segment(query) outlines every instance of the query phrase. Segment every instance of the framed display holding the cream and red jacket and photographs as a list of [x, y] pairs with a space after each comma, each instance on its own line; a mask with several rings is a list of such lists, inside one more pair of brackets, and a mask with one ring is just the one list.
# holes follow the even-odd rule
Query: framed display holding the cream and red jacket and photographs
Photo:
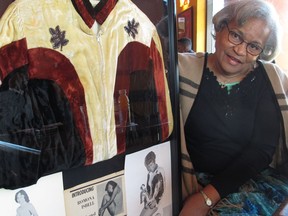
[[178, 214], [174, 11], [170, 0], [1, 0], [5, 215]]

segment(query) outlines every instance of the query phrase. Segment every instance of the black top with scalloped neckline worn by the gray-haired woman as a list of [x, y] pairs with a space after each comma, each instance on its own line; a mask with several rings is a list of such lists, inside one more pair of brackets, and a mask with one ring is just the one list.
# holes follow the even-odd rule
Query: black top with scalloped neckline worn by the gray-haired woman
[[185, 124], [194, 168], [214, 175], [211, 184], [221, 197], [266, 168], [279, 140], [279, 107], [263, 65], [258, 64], [228, 94], [205, 62]]

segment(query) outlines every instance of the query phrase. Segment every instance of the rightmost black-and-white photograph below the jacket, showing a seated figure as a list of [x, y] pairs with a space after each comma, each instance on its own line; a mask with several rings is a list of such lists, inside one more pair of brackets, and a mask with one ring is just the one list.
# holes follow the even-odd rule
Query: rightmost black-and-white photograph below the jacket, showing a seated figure
[[125, 182], [128, 215], [172, 215], [170, 143], [127, 155]]

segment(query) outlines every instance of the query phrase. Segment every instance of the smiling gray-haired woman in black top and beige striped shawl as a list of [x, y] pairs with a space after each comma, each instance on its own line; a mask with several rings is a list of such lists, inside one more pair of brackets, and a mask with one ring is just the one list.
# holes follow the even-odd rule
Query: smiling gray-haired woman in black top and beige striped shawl
[[[255, 207], [257, 214], [267, 214], [248, 198], [232, 199], [228, 204], [223, 198], [231, 197], [240, 186], [243, 189], [244, 183], [267, 169], [272, 159], [277, 169], [288, 170], [287, 142], [282, 133], [288, 116], [280, 109], [287, 107], [287, 97], [276, 97], [285, 92], [281, 82], [287, 77], [266, 62], [278, 54], [280, 28], [276, 18], [275, 9], [265, 1], [237, 1], [213, 17], [214, 53], [179, 54], [186, 198], [181, 216], [206, 215], [220, 204], [234, 206], [239, 213], [250, 211], [248, 205]], [[272, 190], [262, 182], [259, 185], [258, 189]], [[285, 198], [288, 190], [284, 192]], [[270, 211], [283, 199], [278, 199]]]

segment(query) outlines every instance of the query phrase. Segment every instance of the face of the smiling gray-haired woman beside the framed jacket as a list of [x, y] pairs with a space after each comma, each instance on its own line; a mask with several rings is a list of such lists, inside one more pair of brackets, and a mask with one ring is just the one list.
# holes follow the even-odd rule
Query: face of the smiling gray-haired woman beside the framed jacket
[[[228, 40], [229, 30], [237, 33], [246, 42], [235, 45]], [[226, 75], [246, 73], [252, 69], [259, 55], [253, 56], [247, 52], [247, 43], [257, 44], [264, 48], [270, 30], [261, 19], [251, 19], [238, 26], [235, 21], [228, 23], [220, 32], [216, 32], [216, 58], [219, 69]]]

